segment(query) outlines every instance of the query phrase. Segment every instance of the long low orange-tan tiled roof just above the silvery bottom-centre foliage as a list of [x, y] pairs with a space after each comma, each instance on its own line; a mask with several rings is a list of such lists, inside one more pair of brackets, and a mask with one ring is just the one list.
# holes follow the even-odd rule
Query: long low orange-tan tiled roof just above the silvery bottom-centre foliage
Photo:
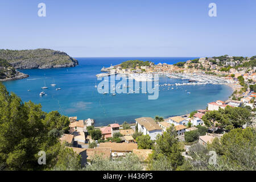
[[134, 149], [138, 148], [137, 143], [111, 143], [111, 142], [105, 142], [100, 143], [99, 147], [108, 147], [111, 148], [113, 151], [119, 151], [119, 152], [131, 152]]

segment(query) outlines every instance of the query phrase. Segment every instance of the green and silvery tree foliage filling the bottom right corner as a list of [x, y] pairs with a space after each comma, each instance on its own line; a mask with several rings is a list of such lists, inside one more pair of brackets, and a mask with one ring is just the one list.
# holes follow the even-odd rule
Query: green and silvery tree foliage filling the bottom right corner
[[[255, 129], [233, 129], [218, 140], [214, 139], [207, 148], [191, 147], [189, 164], [193, 170], [244, 171], [256, 170]], [[216, 164], [209, 163], [210, 151], [216, 152]]]

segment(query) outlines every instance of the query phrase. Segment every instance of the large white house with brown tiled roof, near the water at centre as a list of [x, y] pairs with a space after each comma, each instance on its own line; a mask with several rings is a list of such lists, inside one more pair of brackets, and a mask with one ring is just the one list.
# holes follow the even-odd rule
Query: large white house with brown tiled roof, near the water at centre
[[144, 135], [150, 135], [151, 140], [156, 139], [156, 135], [162, 134], [162, 128], [156, 124], [153, 118], [143, 117], [135, 119], [138, 124], [138, 131], [141, 131]]

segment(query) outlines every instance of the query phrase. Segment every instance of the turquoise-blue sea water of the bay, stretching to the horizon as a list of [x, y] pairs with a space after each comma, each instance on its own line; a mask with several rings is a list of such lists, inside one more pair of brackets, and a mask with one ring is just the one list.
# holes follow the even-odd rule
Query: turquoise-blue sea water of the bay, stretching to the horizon
[[[195, 59], [195, 57], [105, 57], [105, 58], [76, 58], [79, 65], [74, 68], [55, 69], [23, 69], [30, 77], [23, 80], [6, 81], [3, 84], [9, 92], [14, 92], [22, 101], [41, 104], [44, 111], [58, 110], [67, 116], [77, 116], [79, 119], [96, 119], [96, 126], [104, 126], [109, 123], [123, 121], [134, 122], [139, 117], [164, 118], [172, 115], [187, 114], [196, 109], [205, 109], [207, 103], [215, 100], [226, 100], [232, 94], [232, 89], [226, 85], [185, 85], [159, 87], [157, 100], [148, 100], [147, 94], [100, 94], [94, 87], [97, 81], [96, 74], [100, 69], [110, 64], [119, 64], [126, 60], [148, 60], [154, 63], [174, 64], [178, 61]], [[51, 86], [53, 78], [56, 87]], [[48, 89], [42, 90], [46, 86]], [[97, 81], [97, 83], [100, 81]], [[185, 80], [160, 77], [159, 84], [175, 82], [188, 82]], [[164, 88], [164, 90], [163, 90]], [[28, 92], [27, 90], [31, 91]], [[187, 91], [185, 91], [187, 90]], [[40, 92], [46, 92], [47, 96], [40, 97]], [[191, 92], [191, 94], [187, 94]]]

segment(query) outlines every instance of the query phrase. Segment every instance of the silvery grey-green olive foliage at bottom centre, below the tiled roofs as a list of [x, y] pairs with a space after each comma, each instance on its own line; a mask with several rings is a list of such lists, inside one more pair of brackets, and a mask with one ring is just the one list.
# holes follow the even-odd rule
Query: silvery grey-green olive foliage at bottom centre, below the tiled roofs
[[142, 160], [135, 154], [127, 154], [117, 159], [106, 159], [102, 155], [94, 155], [91, 165], [87, 165], [85, 171], [141, 171], [144, 166]]

